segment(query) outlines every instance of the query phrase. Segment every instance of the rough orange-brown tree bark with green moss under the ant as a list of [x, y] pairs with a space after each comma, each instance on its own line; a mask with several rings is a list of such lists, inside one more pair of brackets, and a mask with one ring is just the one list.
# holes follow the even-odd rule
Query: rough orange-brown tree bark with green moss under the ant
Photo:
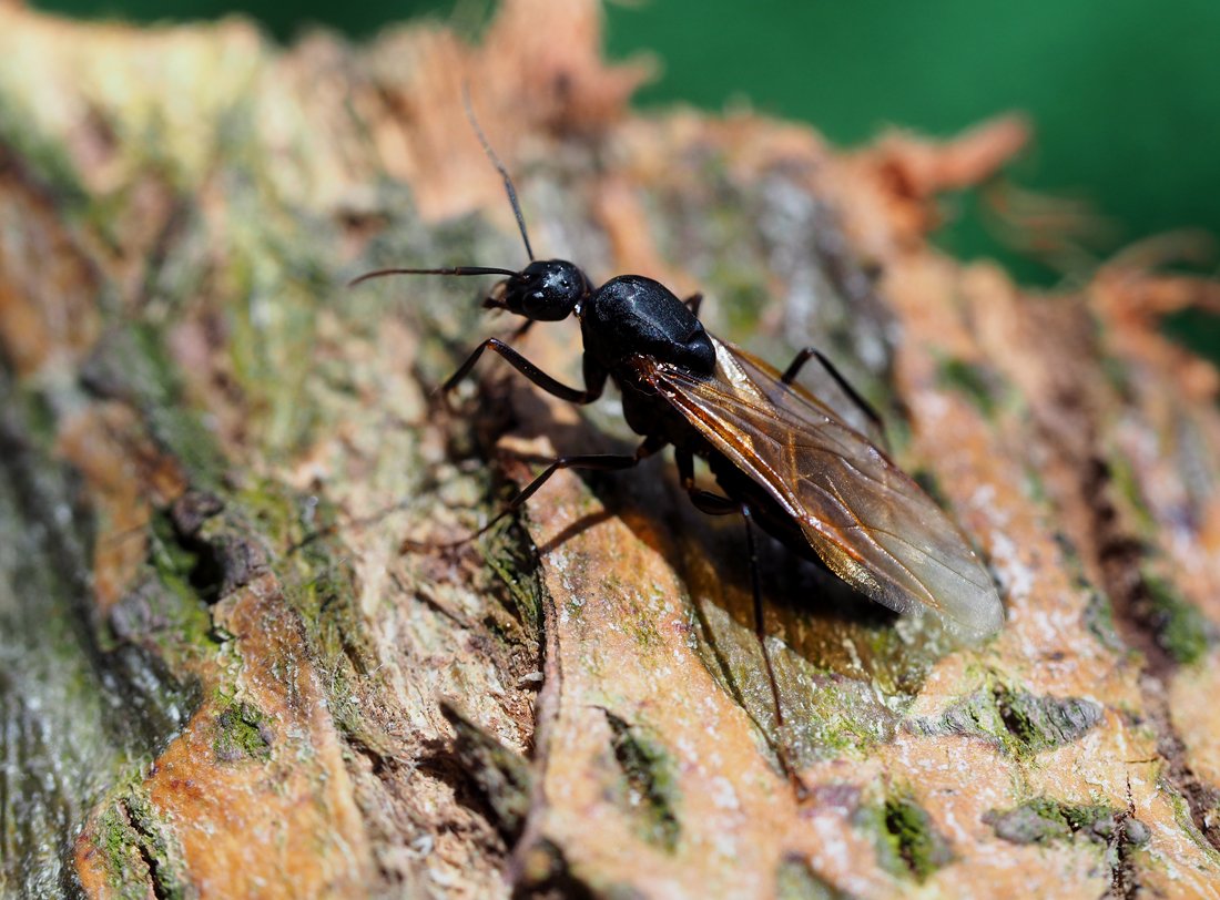
[[[93, 896], [1215, 896], [1218, 376], [1125, 254], [1032, 294], [927, 234], [1025, 132], [844, 154], [639, 117], [582, 0], [288, 50], [0, 5], [0, 889]], [[961, 646], [761, 548], [494, 360], [534, 246], [826, 350], [988, 561]], [[571, 323], [521, 345], [578, 379]], [[798, 796], [777, 749], [808, 785]]]

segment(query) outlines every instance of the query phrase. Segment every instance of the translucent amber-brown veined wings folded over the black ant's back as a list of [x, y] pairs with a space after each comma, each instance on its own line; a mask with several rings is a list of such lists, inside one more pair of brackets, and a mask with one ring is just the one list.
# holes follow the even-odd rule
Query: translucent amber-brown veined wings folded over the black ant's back
[[899, 612], [927, 606], [974, 637], [1003, 623], [992, 579], [944, 512], [805, 390], [716, 343], [716, 373], [637, 357], [643, 378], [800, 524], [839, 578]]

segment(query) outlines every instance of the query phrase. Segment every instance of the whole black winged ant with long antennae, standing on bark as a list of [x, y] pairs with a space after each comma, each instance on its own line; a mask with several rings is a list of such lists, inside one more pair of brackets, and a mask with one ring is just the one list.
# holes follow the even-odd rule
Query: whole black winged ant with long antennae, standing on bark
[[[880, 426], [877, 413], [826, 356], [806, 348], [780, 372], [710, 334], [698, 317], [699, 294], [681, 300], [664, 284], [637, 274], [616, 276], [594, 287], [584, 271], [567, 260], [536, 259], [512, 179], [476, 121], [468, 95], [466, 112], [483, 151], [504, 179], [529, 263], [521, 271], [487, 266], [383, 268], [360, 276], [351, 285], [394, 274], [503, 276], [484, 306], [522, 316], [526, 322], [516, 335], [534, 322], [576, 316], [584, 345], [584, 387], [569, 387], [509, 343], [487, 338], [444, 382], [440, 393], [453, 390], [490, 350], [539, 389], [567, 402], [590, 404], [601, 396], [608, 380], [614, 382], [622, 395], [623, 417], [643, 441], [630, 455], [551, 460], [481, 529], [451, 544], [431, 545], [433, 549], [461, 545], [486, 533], [560, 470], [626, 470], [673, 446], [678, 476], [692, 502], [712, 516], [744, 518], [755, 633], [778, 727], [783, 727], [783, 711], [764, 640], [755, 524], [892, 610], [935, 610], [974, 638], [999, 629], [999, 596], [963, 533], [886, 452], [831, 405], [797, 384], [802, 367], [816, 360]], [[697, 456], [706, 462], [722, 493], [698, 487]], [[800, 789], [782, 749], [778, 756]]]

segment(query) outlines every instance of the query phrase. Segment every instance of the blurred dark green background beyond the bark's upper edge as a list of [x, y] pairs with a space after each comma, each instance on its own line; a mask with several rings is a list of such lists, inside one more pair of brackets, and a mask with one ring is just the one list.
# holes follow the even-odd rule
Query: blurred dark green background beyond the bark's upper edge
[[[489, 0], [38, 0], [46, 10], [140, 22], [243, 12], [281, 40], [322, 24], [354, 38], [414, 16], [467, 28]], [[1100, 252], [1149, 234], [1220, 235], [1220, 2], [1176, 0], [649, 0], [606, 7], [611, 57], [648, 50], [660, 79], [645, 105], [717, 111], [747, 101], [856, 144], [886, 124], [952, 134], [1008, 110], [1026, 112], [1037, 143], [1011, 170], [1022, 188], [1082, 200], [1107, 220]], [[1014, 254], [977, 198], [961, 198], [941, 240], [961, 257], [998, 256], [1026, 283], [1054, 268]], [[1215, 261], [1204, 271], [1215, 271]], [[1069, 274], [1070, 277], [1070, 274]], [[1220, 354], [1203, 316], [1171, 329]]]

